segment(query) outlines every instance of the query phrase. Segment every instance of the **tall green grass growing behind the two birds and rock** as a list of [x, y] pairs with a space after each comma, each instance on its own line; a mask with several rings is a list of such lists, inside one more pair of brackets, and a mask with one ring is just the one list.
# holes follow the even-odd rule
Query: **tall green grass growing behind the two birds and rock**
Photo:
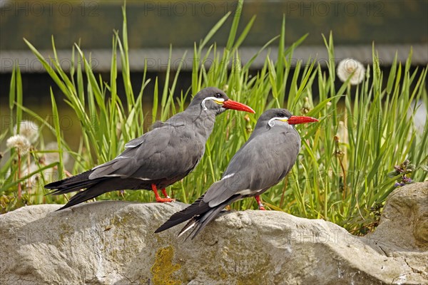
[[[47, 191], [43, 185], [57, 179], [58, 175], [63, 177], [64, 173], [63, 155], [57, 155], [55, 162], [47, 164], [44, 160], [46, 154], [61, 153], [58, 150], [64, 150], [75, 160], [71, 173], [88, 170], [113, 159], [123, 150], [128, 140], [142, 135], [145, 130], [141, 126], [145, 121], [153, 122], [153, 118], [165, 120], [182, 111], [190, 94], [195, 94], [206, 86], [223, 88], [233, 100], [253, 107], [256, 114], [228, 111], [218, 117], [203, 160], [194, 172], [183, 181], [175, 183], [168, 191], [180, 201], [193, 202], [214, 180], [218, 180], [230, 158], [248, 139], [258, 116], [266, 109], [280, 107], [288, 108], [295, 115], [305, 114], [319, 118], [320, 123], [297, 127], [302, 137], [302, 150], [292, 172], [283, 182], [263, 195], [265, 205], [270, 209], [299, 217], [327, 219], [355, 234], [364, 234], [375, 226], [382, 203], [394, 190], [394, 183], [404, 180], [409, 182], [409, 177], [416, 182], [427, 180], [427, 167], [424, 165], [428, 162], [428, 124], [425, 124], [421, 135], [415, 131], [412, 120], [412, 114], [418, 107], [412, 101], [427, 102], [427, 68], [412, 73], [409, 71], [412, 51], [405, 63], [394, 61], [384, 86], [384, 73], [379, 69], [379, 58], [373, 47], [372, 64], [366, 67], [362, 83], [351, 87], [348, 79], [340, 88], [336, 88], [332, 35], [325, 38], [329, 54], [327, 72], [323, 72], [313, 58], [309, 58], [307, 63], [298, 61], [294, 69], [291, 69], [293, 51], [304, 41], [306, 35], [292, 46], [285, 47], [284, 20], [282, 27], [279, 27], [280, 36], [273, 38], [262, 48], [277, 45], [277, 61], [273, 62], [268, 53], [263, 68], [257, 75], [250, 76], [250, 67], [259, 53], [244, 66], [239, 64], [240, 44], [255, 21], [253, 17], [238, 35], [242, 4], [240, 2], [235, 15], [225, 15], [200, 43], [195, 43], [192, 86], [189, 90], [180, 90], [178, 99], [173, 94], [180, 76], [180, 66], [173, 76], [168, 65], [165, 86], [158, 86], [155, 78], [154, 90], [146, 90], [148, 81], [153, 78], [146, 78], [145, 71], [140, 92], [133, 93], [125, 8], [123, 31], [121, 35], [119, 32], [113, 35], [109, 82], [103, 82], [100, 76], [93, 73], [90, 56], [78, 45], [73, 47], [72, 58], [76, 68], [66, 73], [58, 64], [54, 40], [54, 58], [51, 60], [54, 68], [49, 67], [36, 48], [26, 41], [61, 89], [66, 103], [76, 113], [82, 128], [81, 143], [78, 150], [72, 150], [63, 140], [52, 90], [54, 120], [43, 120], [22, 105], [21, 75], [19, 68], [16, 68], [11, 78], [9, 94], [13, 123], [9, 130], [0, 134], [1, 140], [14, 135], [14, 125], [20, 125], [22, 114], [28, 113], [40, 119], [37, 123], [42, 128], [47, 128], [56, 135], [58, 147], [56, 150], [46, 150], [44, 142], [39, 141], [33, 144], [26, 155], [19, 154], [15, 147], [6, 150], [11, 152], [11, 157], [1, 167], [1, 212], [24, 204], [66, 202], [65, 196], [44, 196]], [[208, 46], [213, 34], [232, 16], [233, 24], [225, 48], [220, 50], [215, 44]], [[116, 51], [120, 58], [116, 58]], [[215, 58], [215, 61], [207, 67], [203, 63], [209, 56]], [[117, 93], [118, 61], [122, 65], [125, 94], [121, 95], [125, 95], [125, 100], [121, 100]], [[229, 71], [228, 66], [231, 68]], [[86, 80], [83, 80], [85, 77]], [[317, 93], [312, 90], [315, 83], [319, 89]], [[143, 96], [153, 96], [153, 108], [149, 113], [143, 112]], [[408, 110], [412, 114], [406, 118]], [[404, 169], [403, 171], [394, 170], [395, 165], [400, 165], [405, 160], [409, 160], [412, 165], [399, 168]], [[24, 173], [24, 165], [30, 162], [36, 164], [36, 169]], [[51, 175], [46, 175], [46, 170], [57, 175], [49, 177]], [[37, 174], [40, 175], [39, 182], [26, 187], [26, 181]], [[17, 191], [19, 182], [23, 187], [21, 198]], [[98, 199], [140, 202], [154, 200], [153, 193], [149, 191], [110, 192]], [[236, 202], [232, 207], [257, 208], [253, 199]]]

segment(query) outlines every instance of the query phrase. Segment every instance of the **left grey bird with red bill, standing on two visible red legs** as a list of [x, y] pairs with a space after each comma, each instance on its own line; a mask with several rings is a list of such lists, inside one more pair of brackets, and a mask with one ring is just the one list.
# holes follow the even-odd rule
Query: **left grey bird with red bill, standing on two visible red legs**
[[[218, 88], [198, 92], [183, 112], [157, 122], [148, 133], [129, 141], [115, 159], [79, 175], [49, 183], [61, 195], [86, 188], [71, 197], [66, 209], [115, 190], [153, 190], [156, 202], [172, 202], [165, 187], [183, 179], [200, 161], [215, 116], [227, 109], [255, 113], [247, 105], [230, 100]], [[165, 198], [158, 195], [161, 189]]]

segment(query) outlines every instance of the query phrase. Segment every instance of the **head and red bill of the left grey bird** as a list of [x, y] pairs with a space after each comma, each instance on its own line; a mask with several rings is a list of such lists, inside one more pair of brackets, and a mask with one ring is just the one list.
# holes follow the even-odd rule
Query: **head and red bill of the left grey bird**
[[247, 105], [230, 100], [223, 90], [215, 87], [208, 87], [200, 90], [193, 97], [189, 108], [198, 108], [201, 112], [214, 113], [215, 115], [223, 113], [228, 109], [255, 113], [254, 110]]

